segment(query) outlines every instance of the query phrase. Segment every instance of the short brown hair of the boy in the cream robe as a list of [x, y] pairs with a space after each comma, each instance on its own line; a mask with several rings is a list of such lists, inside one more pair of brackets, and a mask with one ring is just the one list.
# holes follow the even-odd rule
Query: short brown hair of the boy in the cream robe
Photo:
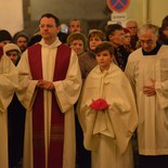
[[95, 48], [95, 54], [98, 54], [104, 50], [107, 50], [109, 52], [109, 54], [113, 55], [114, 54], [113, 43], [108, 42], [108, 41], [103, 41], [102, 43], [98, 44]]

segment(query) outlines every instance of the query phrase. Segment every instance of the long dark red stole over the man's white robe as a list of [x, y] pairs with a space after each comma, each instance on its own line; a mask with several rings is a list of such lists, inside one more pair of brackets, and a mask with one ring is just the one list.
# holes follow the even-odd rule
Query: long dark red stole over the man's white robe
[[[41, 46], [35, 44], [28, 49], [28, 60], [34, 80], [43, 79]], [[70, 60], [70, 49], [65, 44], [57, 48], [55, 59], [53, 81], [64, 80]], [[51, 112], [51, 137], [49, 151], [46, 154], [44, 146], [44, 109], [43, 90], [38, 89], [38, 93], [33, 106], [33, 151], [34, 168], [46, 168], [46, 156], [48, 155], [48, 168], [63, 167], [64, 147], [64, 114], [61, 112], [55, 95], [52, 93]]]

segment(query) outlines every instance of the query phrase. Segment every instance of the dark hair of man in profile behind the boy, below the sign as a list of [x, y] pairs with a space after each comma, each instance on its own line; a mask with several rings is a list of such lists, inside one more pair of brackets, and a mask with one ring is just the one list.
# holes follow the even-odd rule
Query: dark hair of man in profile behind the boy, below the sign
[[107, 25], [105, 28], [106, 39], [109, 40], [108, 36], [113, 35], [115, 30], [122, 30], [124, 27], [119, 24]]

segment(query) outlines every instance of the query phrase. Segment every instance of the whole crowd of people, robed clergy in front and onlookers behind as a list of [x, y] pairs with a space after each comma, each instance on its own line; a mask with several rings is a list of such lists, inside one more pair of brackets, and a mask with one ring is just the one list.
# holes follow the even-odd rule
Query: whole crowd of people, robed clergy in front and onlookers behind
[[167, 168], [168, 16], [68, 34], [0, 29], [1, 168]]

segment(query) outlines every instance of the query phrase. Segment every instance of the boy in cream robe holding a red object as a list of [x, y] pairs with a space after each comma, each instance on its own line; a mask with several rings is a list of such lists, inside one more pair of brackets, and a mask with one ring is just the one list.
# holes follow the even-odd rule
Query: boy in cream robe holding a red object
[[138, 114], [129, 81], [113, 63], [113, 44], [95, 48], [95, 66], [88, 75], [78, 106], [83, 144], [92, 168], [133, 168], [130, 138]]

